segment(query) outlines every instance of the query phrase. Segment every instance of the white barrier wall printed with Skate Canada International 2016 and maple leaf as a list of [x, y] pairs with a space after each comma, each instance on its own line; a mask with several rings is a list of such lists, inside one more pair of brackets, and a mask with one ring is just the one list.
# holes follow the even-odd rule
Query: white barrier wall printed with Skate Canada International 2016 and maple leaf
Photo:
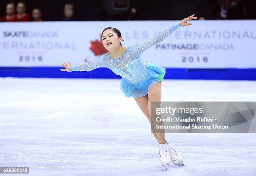
[[[1, 22], [0, 67], [61, 67], [107, 52], [100, 35], [115, 27], [123, 46], [151, 39], [178, 21]], [[256, 68], [256, 20], [191, 20], [141, 58], [162, 67]]]

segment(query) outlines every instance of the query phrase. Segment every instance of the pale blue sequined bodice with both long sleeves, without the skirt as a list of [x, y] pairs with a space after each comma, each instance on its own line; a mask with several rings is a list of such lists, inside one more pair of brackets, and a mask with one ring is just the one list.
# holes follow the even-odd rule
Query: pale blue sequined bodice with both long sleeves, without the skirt
[[91, 71], [99, 67], [108, 67], [115, 74], [137, 84], [142, 82], [148, 73], [146, 63], [141, 59], [141, 54], [149, 47], [162, 42], [174, 30], [180, 27], [180, 22], [172, 25], [161, 32], [153, 39], [127, 47], [123, 55], [117, 59], [112, 58], [108, 53], [101, 56], [95, 62], [73, 65], [70, 71]]

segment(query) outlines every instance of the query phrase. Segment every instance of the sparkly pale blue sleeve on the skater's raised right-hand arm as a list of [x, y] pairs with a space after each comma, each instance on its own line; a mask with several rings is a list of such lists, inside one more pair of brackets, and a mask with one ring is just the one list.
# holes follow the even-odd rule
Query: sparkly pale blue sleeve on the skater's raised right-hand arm
[[164, 30], [163, 32], [161, 32], [159, 35], [157, 35], [156, 37], [147, 40], [145, 42], [142, 43], [138, 43], [135, 45], [132, 45], [133, 47], [133, 53], [135, 54], [136, 57], [140, 57], [140, 55], [148, 48], [156, 45], [159, 42], [164, 41], [164, 39], [169, 36], [172, 32], [174, 32], [174, 30], [177, 30], [180, 27], [180, 22], [172, 25], [171, 27], [169, 27], [168, 29]]

